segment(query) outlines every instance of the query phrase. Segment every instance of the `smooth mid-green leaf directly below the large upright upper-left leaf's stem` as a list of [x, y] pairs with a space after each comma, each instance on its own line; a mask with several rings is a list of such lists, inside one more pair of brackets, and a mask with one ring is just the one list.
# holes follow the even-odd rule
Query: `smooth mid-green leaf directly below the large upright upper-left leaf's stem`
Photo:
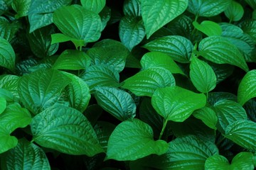
[[53, 64], [53, 69], [86, 69], [90, 66], [90, 57], [78, 50], [65, 50]]

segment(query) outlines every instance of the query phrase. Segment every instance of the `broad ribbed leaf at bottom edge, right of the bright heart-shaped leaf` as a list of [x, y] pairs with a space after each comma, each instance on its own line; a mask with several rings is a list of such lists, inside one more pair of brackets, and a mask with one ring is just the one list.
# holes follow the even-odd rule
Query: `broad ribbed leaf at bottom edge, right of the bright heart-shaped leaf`
[[204, 169], [206, 159], [215, 154], [218, 148], [213, 142], [186, 135], [169, 142], [166, 154], [151, 159], [149, 164], [157, 169]]

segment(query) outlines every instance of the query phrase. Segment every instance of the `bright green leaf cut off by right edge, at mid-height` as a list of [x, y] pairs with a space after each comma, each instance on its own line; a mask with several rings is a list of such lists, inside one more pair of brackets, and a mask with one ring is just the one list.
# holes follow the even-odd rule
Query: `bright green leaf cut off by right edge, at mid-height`
[[250, 98], [256, 97], [256, 69], [245, 74], [238, 87], [238, 103], [244, 105]]

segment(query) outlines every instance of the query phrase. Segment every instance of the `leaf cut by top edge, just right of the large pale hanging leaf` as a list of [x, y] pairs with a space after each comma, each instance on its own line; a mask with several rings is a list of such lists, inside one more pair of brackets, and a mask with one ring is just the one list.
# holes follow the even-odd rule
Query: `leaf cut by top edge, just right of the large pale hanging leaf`
[[190, 0], [187, 10], [195, 16], [217, 16], [230, 6], [232, 0]]

